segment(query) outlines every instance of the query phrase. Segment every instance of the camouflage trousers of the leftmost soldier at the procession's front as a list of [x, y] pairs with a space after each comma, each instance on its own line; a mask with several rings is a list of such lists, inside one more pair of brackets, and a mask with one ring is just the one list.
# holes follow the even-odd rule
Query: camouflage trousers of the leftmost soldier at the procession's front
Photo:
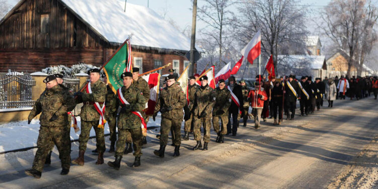
[[61, 168], [70, 169], [70, 130], [67, 127], [43, 127], [39, 128], [39, 135], [37, 140], [37, 152], [35, 153], [33, 161], [33, 169], [38, 171], [43, 170], [46, 156], [50, 149], [56, 146], [59, 151], [59, 159], [61, 161]]

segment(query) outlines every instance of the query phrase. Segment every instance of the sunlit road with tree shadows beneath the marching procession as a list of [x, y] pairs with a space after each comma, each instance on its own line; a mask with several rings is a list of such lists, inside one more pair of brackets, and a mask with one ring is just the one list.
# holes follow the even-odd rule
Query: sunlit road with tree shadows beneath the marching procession
[[[236, 137], [226, 136], [224, 144], [212, 142], [209, 150], [193, 151], [193, 136], [183, 141], [180, 156], [172, 157], [174, 147], [167, 146], [165, 158], [156, 157], [159, 148], [150, 131], [149, 143], [142, 152], [142, 166], [131, 167], [134, 157], [122, 159], [119, 171], [106, 162], [113, 154], [105, 153], [105, 163], [95, 165], [94, 140], [89, 142], [84, 166], [72, 166], [61, 176], [60, 162], [54, 150], [52, 164], [40, 179], [23, 172], [31, 167], [34, 150], [0, 156], [0, 187], [4, 188], [325, 188], [351, 163], [351, 160], [378, 134], [378, 101], [337, 100], [333, 108], [274, 126], [262, 122], [259, 130], [248, 121], [240, 124]], [[328, 103], [325, 102], [325, 105]], [[170, 140], [169, 140], [170, 141]], [[107, 147], [109, 146], [107, 140]], [[72, 158], [78, 154], [73, 143]]]

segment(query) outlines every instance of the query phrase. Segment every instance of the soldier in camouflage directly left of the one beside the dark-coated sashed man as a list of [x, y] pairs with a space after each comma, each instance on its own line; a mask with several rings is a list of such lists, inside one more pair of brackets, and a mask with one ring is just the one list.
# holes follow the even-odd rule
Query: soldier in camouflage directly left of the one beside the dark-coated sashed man
[[214, 90], [208, 85], [207, 76], [202, 76], [200, 78], [201, 87], [197, 90], [195, 94], [194, 102], [194, 138], [197, 141], [197, 145], [193, 150], [198, 150], [202, 147], [201, 144], [201, 126], [204, 127], [204, 148], [208, 149], [208, 144], [210, 142], [210, 129], [211, 129], [211, 110], [213, 109], [215, 103], [215, 93]]

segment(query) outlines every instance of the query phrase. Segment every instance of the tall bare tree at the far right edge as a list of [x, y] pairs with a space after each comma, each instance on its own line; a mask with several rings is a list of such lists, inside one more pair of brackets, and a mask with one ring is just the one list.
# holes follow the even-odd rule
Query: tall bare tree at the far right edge
[[374, 37], [373, 26], [376, 19], [376, 9], [371, 6], [371, 2], [365, 0], [332, 1], [321, 13], [323, 22], [320, 22], [319, 27], [338, 47], [337, 50], [349, 55], [348, 76], [352, 67], [358, 66], [356, 60], [362, 60], [363, 64], [366, 53], [371, 50], [371, 37]]

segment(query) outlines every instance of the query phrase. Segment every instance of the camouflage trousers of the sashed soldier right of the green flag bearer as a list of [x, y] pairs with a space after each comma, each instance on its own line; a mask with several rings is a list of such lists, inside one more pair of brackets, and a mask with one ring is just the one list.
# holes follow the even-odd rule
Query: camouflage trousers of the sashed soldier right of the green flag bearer
[[122, 156], [123, 150], [127, 141], [127, 137], [130, 136], [134, 141], [134, 156], [141, 157], [142, 156], [142, 128], [136, 129], [119, 129], [118, 128], [118, 140], [115, 145], [115, 155]]

